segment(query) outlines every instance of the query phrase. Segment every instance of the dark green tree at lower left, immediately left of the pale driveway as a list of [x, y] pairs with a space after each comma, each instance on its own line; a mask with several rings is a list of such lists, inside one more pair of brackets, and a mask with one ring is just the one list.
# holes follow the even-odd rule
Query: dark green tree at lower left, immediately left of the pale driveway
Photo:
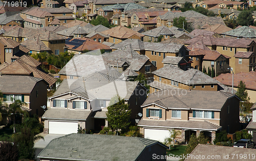
[[29, 128], [23, 128], [20, 133], [13, 134], [12, 137], [18, 147], [19, 159], [34, 159], [34, 141], [44, 139], [41, 135], [35, 136]]

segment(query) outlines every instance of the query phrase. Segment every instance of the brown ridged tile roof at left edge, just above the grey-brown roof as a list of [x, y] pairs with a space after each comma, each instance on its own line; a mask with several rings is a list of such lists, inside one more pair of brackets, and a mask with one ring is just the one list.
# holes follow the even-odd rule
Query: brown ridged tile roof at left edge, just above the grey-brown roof
[[55, 86], [57, 80], [45, 72], [42, 72], [39, 66], [40, 64], [40, 62], [31, 56], [24, 55], [16, 58], [15, 61], [2, 68], [0, 72], [2, 75], [25, 75], [44, 79], [47, 82], [47, 87], [51, 89]]

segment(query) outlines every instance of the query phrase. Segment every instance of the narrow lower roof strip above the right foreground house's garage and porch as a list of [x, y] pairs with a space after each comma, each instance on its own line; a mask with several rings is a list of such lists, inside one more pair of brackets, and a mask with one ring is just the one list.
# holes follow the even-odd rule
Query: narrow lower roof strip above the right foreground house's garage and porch
[[155, 126], [155, 127], [163, 127], [163, 128], [172, 128], [172, 129], [198, 129], [198, 130], [213, 130], [217, 131], [222, 128], [214, 123], [210, 123], [208, 121], [152, 121], [152, 120], [140, 120], [138, 126]]

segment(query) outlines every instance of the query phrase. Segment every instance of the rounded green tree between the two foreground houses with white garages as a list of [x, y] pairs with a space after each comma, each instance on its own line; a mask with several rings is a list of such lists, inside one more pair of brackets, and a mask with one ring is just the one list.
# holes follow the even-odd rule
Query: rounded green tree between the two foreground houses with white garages
[[[113, 99], [115, 99], [115, 97]], [[130, 124], [129, 119], [131, 112], [129, 105], [118, 97], [118, 102], [109, 106], [108, 111], [106, 111], [106, 118], [112, 130], [117, 133], [118, 129], [127, 127]]]

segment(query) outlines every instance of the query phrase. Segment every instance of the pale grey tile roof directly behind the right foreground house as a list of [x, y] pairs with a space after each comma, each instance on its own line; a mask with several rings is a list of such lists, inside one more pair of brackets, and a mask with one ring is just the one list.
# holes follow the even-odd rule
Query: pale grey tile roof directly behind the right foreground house
[[182, 82], [184, 84], [216, 84], [219, 83], [214, 78], [195, 70], [194, 68], [189, 68], [187, 71], [183, 71], [181, 68], [168, 64], [152, 72], [154, 75], [161, 76], [167, 79]]

